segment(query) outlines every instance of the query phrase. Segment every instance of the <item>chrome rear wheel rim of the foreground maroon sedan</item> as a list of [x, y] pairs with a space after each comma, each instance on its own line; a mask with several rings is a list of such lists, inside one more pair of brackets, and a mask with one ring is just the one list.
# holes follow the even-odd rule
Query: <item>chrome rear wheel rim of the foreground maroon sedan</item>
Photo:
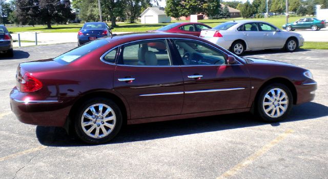
[[92, 138], [103, 138], [109, 135], [115, 123], [114, 110], [105, 104], [89, 106], [81, 117], [83, 131]]

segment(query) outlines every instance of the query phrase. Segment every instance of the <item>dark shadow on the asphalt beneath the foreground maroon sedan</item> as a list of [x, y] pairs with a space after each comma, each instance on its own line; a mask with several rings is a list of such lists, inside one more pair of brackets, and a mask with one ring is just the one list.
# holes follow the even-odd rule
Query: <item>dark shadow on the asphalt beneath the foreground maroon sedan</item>
[[[294, 106], [290, 115], [281, 123], [302, 120], [315, 120], [316, 118], [328, 116], [328, 107], [318, 103], [305, 103]], [[229, 130], [252, 126], [268, 125], [256, 120], [251, 113], [237, 113], [216, 115], [209, 117], [188, 118], [185, 120], [166, 121], [158, 123], [147, 123], [129, 125], [109, 143], [119, 144], [136, 141], [154, 140], [172, 136], [189, 135], [203, 132]], [[279, 126], [280, 123], [271, 123], [271, 126]], [[74, 136], [69, 136], [63, 128], [59, 127], [36, 127], [36, 136], [40, 144], [53, 147], [89, 146], [80, 142]]]

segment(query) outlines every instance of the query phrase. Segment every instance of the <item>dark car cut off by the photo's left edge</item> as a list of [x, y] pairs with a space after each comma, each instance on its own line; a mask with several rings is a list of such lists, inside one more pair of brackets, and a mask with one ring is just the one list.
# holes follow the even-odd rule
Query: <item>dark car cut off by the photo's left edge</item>
[[4, 25], [0, 25], [0, 52], [13, 57], [12, 37]]

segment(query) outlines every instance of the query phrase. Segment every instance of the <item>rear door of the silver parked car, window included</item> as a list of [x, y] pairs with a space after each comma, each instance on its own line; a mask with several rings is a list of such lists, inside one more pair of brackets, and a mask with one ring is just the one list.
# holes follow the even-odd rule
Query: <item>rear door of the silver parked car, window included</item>
[[244, 24], [242, 33], [248, 49], [262, 48], [264, 32], [259, 31], [257, 23]]

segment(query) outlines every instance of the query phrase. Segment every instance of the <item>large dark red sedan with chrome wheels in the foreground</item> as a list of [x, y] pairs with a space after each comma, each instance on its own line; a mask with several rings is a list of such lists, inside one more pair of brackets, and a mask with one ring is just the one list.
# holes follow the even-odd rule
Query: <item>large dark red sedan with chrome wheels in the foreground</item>
[[171, 33], [99, 38], [22, 63], [16, 79], [10, 104], [19, 121], [72, 129], [92, 144], [110, 141], [124, 124], [247, 111], [278, 122], [317, 88], [309, 70]]

